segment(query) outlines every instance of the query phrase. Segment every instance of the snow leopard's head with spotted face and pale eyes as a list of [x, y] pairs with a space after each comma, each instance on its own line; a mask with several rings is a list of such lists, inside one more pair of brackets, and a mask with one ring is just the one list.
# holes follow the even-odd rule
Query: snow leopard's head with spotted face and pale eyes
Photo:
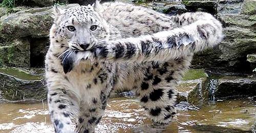
[[83, 51], [92, 48], [96, 41], [108, 38], [109, 26], [97, 13], [100, 6], [98, 1], [92, 6], [75, 6], [66, 10], [55, 6], [51, 40], [60, 47]]

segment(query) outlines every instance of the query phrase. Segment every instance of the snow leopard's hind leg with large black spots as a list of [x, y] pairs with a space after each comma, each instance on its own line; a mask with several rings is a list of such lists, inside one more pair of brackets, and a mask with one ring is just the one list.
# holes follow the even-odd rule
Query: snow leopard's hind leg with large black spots
[[177, 82], [190, 65], [192, 55], [164, 63], [152, 63], [136, 94], [148, 117], [157, 124], [168, 124], [176, 115]]

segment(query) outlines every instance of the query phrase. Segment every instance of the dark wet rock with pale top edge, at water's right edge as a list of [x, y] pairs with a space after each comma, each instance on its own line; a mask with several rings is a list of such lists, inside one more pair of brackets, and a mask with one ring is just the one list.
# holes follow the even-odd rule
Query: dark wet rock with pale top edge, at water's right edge
[[214, 96], [216, 99], [256, 95], [256, 79], [224, 76], [218, 79]]

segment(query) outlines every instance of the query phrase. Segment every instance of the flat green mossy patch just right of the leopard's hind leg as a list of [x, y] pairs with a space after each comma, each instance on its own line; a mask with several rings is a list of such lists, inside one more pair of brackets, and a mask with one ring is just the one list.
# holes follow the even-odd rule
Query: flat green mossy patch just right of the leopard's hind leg
[[204, 69], [189, 69], [183, 76], [183, 80], [192, 80], [207, 77]]

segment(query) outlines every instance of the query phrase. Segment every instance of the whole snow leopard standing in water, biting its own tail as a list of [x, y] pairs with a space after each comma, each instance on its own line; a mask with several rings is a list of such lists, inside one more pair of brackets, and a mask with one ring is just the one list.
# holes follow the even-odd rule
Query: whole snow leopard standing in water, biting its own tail
[[223, 38], [208, 13], [168, 16], [120, 2], [54, 7], [53, 18], [45, 66], [55, 132], [94, 132], [118, 89], [133, 90], [148, 118], [168, 125], [193, 54]]

